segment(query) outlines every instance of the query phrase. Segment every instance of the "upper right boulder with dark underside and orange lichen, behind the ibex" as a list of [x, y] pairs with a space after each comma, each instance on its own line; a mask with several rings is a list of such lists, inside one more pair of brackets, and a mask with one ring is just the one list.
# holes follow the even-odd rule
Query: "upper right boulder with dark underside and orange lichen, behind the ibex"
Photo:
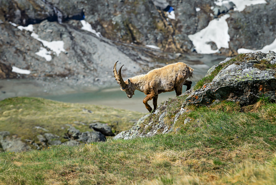
[[191, 93], [183, 106], [210, 105], [215, 100], [234, 101], [246, 106], [254, 104], [262, 96], [275, 101], [275, 69], [261, 70], [256, 65], [261, 60], [273, 62], [275, 58], [276, 53], [272, 51], [268, 54], [255, 52], [247, 54], [241, 61], [229, 62], [211, 83]]

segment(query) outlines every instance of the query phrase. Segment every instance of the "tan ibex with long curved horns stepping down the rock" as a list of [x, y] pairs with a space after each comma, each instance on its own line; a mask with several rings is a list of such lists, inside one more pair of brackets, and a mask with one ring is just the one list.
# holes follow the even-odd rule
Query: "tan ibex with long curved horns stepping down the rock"
[[179, 96], [182, 94], [183, 85], [187, 86], [186, 91], [192, 85], [192, 82], [187, 79], [193, 77], [194, 69], [182, 62], [153, 69], [145, 75], [134, 76], [126, 81], [123, 80], [121, 75], [121, 70], [124, 65], [117, 72], [117, 62], [114, 65], [113, 72], [117, 83], [121, 86], [121, 90], [126, 92], [128, 98], [132, 98], [135, 90], [145, 93], [147, 96], [144, 98], [143, 103], [149, 112], [152, 111], [152, 108], [149, 106], [148, 101], [153, 98], [153, 110], [155, 111], [157, 108], [158, 94], [175, 90], [176, 95]]

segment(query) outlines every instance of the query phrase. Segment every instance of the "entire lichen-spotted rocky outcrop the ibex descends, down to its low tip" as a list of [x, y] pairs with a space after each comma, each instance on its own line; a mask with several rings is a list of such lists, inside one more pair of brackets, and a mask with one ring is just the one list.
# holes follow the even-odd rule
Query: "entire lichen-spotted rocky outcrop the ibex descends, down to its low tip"
[[[216, 75], [215, 75], [216, 71]], [[276, 101], [276, 53], [254, 52], [227, 58], [209, 69], [205, 77], [213, 79], [200, 89], [194, 87], [179, 97], [158, 106], [155, 113], [140, 118], [132, 129], [123, 131], [113, 139], [151, 137], [158, 133], [177, 132], [174, 128], [180, 115], [189, 112], [188, 105], [209, 106], [222, 100], [252, 105], [265, 97]], [[191, 119], [186, 118], [184, 124]]]

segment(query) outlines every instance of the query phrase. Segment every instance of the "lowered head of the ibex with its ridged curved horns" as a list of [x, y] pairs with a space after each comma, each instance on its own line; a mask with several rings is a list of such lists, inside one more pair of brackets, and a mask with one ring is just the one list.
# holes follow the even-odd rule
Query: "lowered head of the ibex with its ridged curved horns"
[[[117, 61], [118, 62], [118, 61]], [[130, 79], [124, 81], [121, 75], [121, 69], [124, 65], [122, 65], [122, 67], [120, 67], [119, 71], [117, 72], [116, 70], [116, 64], [114, 65], [113, 68], [113, 73], [114, 73], [114, 77], [117, 80], [117, 83], [120, 84], [121, 86], [121, 90], [125, 91], [125, 93], [127, 94], [128, 98], [132, 98], [132, 95], [134, 95], [134, 91], [136, 90], [135, 87], [133, 86], [133, 84], [131, 83]]]

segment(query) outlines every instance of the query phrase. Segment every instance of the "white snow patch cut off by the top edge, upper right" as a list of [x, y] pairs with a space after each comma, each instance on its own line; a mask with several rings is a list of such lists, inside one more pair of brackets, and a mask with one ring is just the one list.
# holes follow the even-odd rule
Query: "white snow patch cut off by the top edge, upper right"
[[223, 4], [228, 2], [233, 2], [236, 5], [234, 10], [239, 12], [243, 11], [246, 6], [266, 3], [265, 0], [217, 0], [215, 4], [217, 6], [222, 6]]

